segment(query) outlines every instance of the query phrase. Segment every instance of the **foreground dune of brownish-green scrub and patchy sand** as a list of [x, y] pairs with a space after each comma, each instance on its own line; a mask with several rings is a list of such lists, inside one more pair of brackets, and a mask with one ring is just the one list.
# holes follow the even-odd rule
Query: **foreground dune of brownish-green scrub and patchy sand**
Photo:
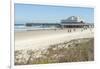
[[94, 38], [71, 40], [45, 50], [15, 51], [15, 65], [48, 64], [94, 60]]

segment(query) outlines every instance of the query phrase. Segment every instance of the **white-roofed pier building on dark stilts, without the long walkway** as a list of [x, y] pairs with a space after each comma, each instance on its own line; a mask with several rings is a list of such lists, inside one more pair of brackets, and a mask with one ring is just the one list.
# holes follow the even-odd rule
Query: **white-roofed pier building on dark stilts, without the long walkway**
[[61, 20], [61, 25], [63, 28], [94, 27], [94, 24], [86, 23], [80, 16], [71, 16], [67, 19]]

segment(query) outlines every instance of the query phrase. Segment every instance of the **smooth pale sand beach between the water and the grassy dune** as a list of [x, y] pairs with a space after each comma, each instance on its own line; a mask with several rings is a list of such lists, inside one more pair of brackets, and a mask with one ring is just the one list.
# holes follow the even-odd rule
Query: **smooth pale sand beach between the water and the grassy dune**
[[62, 43], [79, 38], [92, 38], [93, 29], [76, 29], [68, 32], [64, 30], [34, 30], [15, 32], [15, 50], [21, 49], [45, 49], [53, 44]]

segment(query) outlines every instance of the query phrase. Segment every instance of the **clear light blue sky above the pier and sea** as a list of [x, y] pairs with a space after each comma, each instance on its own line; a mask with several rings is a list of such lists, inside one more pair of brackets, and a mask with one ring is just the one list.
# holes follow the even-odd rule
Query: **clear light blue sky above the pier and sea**
[[85, 22], [94, 23], [93, 8], [15, 3], [14, 11], [16, 24], [60, 23], [70, 16], [81, 16]]

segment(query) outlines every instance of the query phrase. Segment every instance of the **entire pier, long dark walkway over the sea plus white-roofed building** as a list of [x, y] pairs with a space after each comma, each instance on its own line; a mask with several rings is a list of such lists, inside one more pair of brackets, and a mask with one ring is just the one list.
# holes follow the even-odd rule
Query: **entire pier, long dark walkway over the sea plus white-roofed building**
[[26, 23], [28, 27], [48, 27], [48, 28], [86, 28], [94, 27], [92, 23], [86, 23], [80, 16], [70, 16], [61, 20], [60, 23]]

